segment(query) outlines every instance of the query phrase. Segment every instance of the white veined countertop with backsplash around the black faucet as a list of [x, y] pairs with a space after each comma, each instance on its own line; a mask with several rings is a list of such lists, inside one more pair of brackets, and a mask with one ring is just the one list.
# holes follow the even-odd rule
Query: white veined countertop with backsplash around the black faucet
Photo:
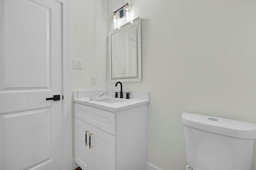
[[[125, 92], [126, 90], [124, 90], [124, 94]], [[147, 104], [150, 102], [148, 97], [149, 92], [132, 91], [130, 94], [130, 99], [125, 99], [125, 97], [122, 99], [114, 98], [113, 96], [109, 95], [110, 93], [112, 94], [112, 90], [74, 91], [74, 102], [78, 104], [83, 104], [85, 106], [95, 107], [95, 108], [103, 109], [107, 111], [120, 111], [120, 110], [128, 109], [131, 107], [139, 106], [142, 104]], [[92, 97], [88, 97], [88, 95]], [[132, 96], [136, 96], [137, 98], [132, 98]], [[119, 101], [116, 101], [116, 103], [100, 102], [100, 100], [108, 100], [108, 99], [119, 100], [120, 102]]]

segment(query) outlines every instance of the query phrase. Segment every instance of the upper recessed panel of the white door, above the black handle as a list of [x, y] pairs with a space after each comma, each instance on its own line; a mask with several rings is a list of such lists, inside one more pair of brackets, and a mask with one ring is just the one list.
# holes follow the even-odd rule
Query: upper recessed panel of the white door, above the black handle
[[5, 7], [4, 88], [49, 88], [50, 9], [30, 0]]

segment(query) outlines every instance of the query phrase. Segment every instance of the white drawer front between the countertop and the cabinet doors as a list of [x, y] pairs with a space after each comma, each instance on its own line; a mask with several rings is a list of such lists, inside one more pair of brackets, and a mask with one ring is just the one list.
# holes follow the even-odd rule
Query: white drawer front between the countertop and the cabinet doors
[[116, 135], [116, 114], [75, 103], [75, 117], [107, 133]]

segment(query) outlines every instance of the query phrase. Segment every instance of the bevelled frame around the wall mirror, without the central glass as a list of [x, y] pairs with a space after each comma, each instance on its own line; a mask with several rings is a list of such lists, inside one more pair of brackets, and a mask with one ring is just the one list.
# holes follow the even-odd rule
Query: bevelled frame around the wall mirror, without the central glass
[[[136, 75], [133, 76], [116, 76], [113, 77], [113, 72], [114, 72], [114, 67], [113, 67], [113, 38], [112, 36], [116, 35], [117, 33], [120, 33], [121, 31], [125, 30], [125, 28], [127, 28], [128, 26], [130, 26], [131, 24], [136, 24]], [[121, 40], [122, 41], [122, 40]], [[125, 54], [125, 53], [123, 53]], [[109, 57], [110, 57], [110, 82], [118, 82], [118, 81], [122, 81], [122, 82], [141, 82], [142, 81], [142, 62], [141, 62], [141, 18], [138, 17], [134, 20], [132, 20], [132, 22], [128, 22], [122, 26], [120, 26], [119, 28], [114, 29], [113, 31], [111, 31], [109, 33]], [[120, 69], [121, 71], [121, 69]], [[125, 70], [126, 71], [126, 70]]]

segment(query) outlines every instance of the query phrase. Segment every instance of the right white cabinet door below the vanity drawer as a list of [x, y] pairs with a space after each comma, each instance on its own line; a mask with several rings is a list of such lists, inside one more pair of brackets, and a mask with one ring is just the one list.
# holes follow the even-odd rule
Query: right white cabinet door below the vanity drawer
[[[116, 136], [91, 127], [95, 170], [116, 170]], [[84, 170], [84, 169], [83, 169]]]

